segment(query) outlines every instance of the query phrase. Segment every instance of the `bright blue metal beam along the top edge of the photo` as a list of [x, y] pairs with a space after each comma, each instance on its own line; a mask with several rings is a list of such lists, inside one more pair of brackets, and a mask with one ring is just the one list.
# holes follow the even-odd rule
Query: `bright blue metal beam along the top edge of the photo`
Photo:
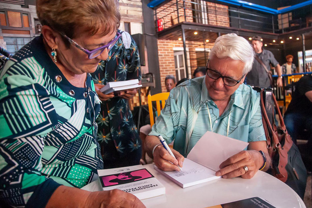
[[[160, 5], [161, 3], [163, 3], [164, 1], [166, 1], [166, 0], [153, 0], [153, 1], [149, 2], [149, 4], [147, 6], [150, 8], [154, 8], [154, 7], [157, 7], [158, 5]], [[235, 6], [245, 7], [245, 8], [261, 11], [261, 12], [266, 12], [266, 13], [274, 14], [274, 15], [290, 12], [294, 9], [298, 9], [298, 8], [305, 7], [305, 6], [312, 4], [312, 0], [308, 0], [305, 2], [301, 2], [299, 4], [295, 4], [291, 7], [287, 7], [285, 9], [276, 10], [276, 9], [261, 6], [258, 4], [254, 4], [254, 3], [250, 3], [250, 2], [246, 2], [246, 1], [241, 1], [241, 0], [216, 0], [216, 1], [224, 2], [224, 3], [235, 5]]]

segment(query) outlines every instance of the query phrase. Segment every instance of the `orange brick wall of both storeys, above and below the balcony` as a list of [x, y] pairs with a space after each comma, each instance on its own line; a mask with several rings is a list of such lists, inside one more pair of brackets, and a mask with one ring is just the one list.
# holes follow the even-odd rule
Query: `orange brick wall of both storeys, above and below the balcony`
[[[171, 1], [159, 7], [157, 11], [157, 18], [163, 18], [163, 29], [171, 27], [171, 16], [173, 18], [177, 17], [177, 6], [176, 1]], [[207, 6], [207, 17], [208, 24], [230, 27], [230, 19], [228, 13], [228, 7], [222, 4], [216, 4], [211, 2], [206, 2]], [[178, 2], [178, 7], [183, 7], [183, 1]], [[185, 2], [185, 13], [186, 13], [186, 22], [193, 22], [193, 13], [192, 13], [192, 4], [190, 2]], [[158, 13], [159, 12], [159, 13]], [[171, 13], [172, 12], [172, 13]], [[184, 21], [184, 10], [179, 9], [179, 18], [180, 22]], [[182, 17], [181, 17], [182, 16]], [[194, 42], [187, 41], [189, 54], [189, 65], [188, 69], [191, 70], [191, 74], [193, 74], [194, 70], [197, 68], [197, 60], [196, 60], [196, 45], [202, 45], [202, 42]], [[195, 44], [195, 45], [188, 45]], [[213, 43], [205, 44], [205, 48], [212, 48]], [[164, 85], [164, 80], [167, 75], [175, 75], [174, 69], [174, 52], [173, 47], [183, 47], [182, 41], [172, 41], [172, 40], [158, 40], [158, 59], [159, 59], [159, 70], [160, 70], [160, 79], [162, 92], [166, 92], [166, 88]], [[198, 46], [197, 46], [198, 47]], [[203, 46], [199, 46], [203, 48]], [[178, 81], [178, 80], [177, 80]]]

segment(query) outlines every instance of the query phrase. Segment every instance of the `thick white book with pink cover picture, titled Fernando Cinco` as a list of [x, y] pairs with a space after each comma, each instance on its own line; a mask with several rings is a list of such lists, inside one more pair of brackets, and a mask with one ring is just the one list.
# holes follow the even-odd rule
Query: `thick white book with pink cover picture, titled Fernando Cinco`
[[98, 170], [104, 191], [120, 189], [146, 199], [165, 194], [165, 187], [142, 165]]

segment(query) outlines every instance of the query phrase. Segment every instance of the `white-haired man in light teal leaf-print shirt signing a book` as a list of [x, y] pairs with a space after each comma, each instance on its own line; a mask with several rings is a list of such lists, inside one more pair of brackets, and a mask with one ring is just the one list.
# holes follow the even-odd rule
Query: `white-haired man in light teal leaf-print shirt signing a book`
[[[252, 46], [243, 37], [232, 33], [217, 38], [206, 76], [171, 90], [165, 108], [146, 138], [147, 153], [154, 157], [158, 168], [178, 171], [177, 165], [183, 167], [184, 157], [207, 131], [249, 143], [247, 150], [220, 164], [217, 176], [251, 178], [258, 170], [269, 168], [260, 94], [243, 84], [253, 61]], [[167, 143], [174, 139], [172, 152], [177, 159], [159, 145], [158, 135]]]

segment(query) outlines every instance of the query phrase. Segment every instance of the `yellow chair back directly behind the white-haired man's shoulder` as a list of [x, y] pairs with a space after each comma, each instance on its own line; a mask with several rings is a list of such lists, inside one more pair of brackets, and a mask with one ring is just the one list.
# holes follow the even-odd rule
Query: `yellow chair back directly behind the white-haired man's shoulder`
[[153, 106], [152, 106], [152, 101], [156, 101], [156, 108], [157, 108], [157, 116], [160, 115], [160, 100], [161, 100], [161, 105], [162, 109], [165, 107], [165, 102], [169, 97], [169, 92], [163, 92], [163, 93], [158, 93], [154, 95], [148, 95], [147, 96], [147, 104], [149, 105], [149, 119], [151, 122], [151, 126], [154, 125], [154, 116], [153, 116]]

